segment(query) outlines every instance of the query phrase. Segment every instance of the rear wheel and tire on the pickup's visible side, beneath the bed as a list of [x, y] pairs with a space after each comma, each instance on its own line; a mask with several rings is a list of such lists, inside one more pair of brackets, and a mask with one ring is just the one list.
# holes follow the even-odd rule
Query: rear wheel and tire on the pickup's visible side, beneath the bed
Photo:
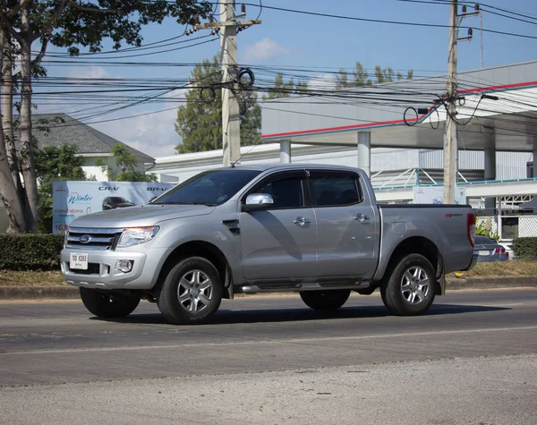
[[429, 310], [435, 297], [436, 277], [430, 261], [420, 254], [409, 254], [380, 286], [382, 301], [396, 316], [418, 316]]

